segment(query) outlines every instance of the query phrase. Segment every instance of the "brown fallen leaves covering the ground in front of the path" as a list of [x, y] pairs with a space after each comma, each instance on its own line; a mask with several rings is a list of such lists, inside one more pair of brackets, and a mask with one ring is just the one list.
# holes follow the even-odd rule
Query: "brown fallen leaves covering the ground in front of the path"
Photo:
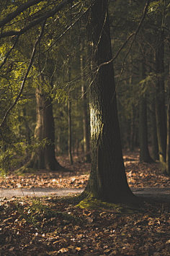
[[[161, 209], [161, 210], [160, 210]], [[1, 255], [169, 255], [169, 204], [136, 213], [76, 208], [58, 197], [1, 200]], [[5, 244], [5, 246], [4, 246]]]

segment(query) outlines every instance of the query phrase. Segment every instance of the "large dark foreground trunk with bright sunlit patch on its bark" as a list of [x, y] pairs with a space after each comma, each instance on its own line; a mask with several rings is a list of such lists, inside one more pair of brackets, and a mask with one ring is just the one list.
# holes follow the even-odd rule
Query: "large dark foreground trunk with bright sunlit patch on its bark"
[[[135, 198], [125, 175], [117, 117], [107, 0], [95, 1], [89, 17], [92, 82], [90, 86], [91, 174], [84, 195], [107, 202]], [[94, 72], [97, 71], [97, 72]]]

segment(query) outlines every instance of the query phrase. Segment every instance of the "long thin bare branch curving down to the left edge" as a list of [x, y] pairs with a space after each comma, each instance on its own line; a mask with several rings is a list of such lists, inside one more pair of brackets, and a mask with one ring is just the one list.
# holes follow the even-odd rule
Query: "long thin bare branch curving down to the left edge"
[[4, 118], [3, 118], [2, 121], [1, 121], [0, 129], [4, 126], [4, 123], [5, 123], [5, 121], [6, 121], [7, 116], [9, 115], [9, 112], [12, 110], [12, 108], [14, 108], [14, 106], [17, 104], [17, 102], [18, 102], [20, 96], [22, 95], [22, 91], [23, 91], [23, 89], [24, 89], [24, 84], [25, 84], [25, 82], [26, 82], [26, 80], [27, 80], [27, 76], [28, 76], [28, 74], [29, 74], [29, 72], [30, 72], [30, 69], [31, 69], [31, 67], [32, 67], [32, 63], [33, 63], [33, 61], [34, 61], [34, 57], [35, 57], [35, 53], [36, 53], [37, 44], [40, 43], [40, 40], [41, 40], [42, 35], [43, 35], [43, 33], [44, 33], [45, 22], [46, 22], [46, 20], [44, 20], [44, 22], [42, 22], [42, 27], [41, 27], [40, 35], [38, 35], [37, 40], [35, 41], [35, 45], [34, 45], [34, 47], [33, 47], [33, 49], [32, 49], [32, 55], [31, 55], [31, 58], [30, 58], [30, 63], [29, 63], [29, 65], [28, 65], [28, 67], [27, 67], [27, 72], [26, 72], [25, 75], [24, 75], [24, 79], [22, 80], [22, 84], [21, 84], [19, 93], [18, 93], [18, 95], [17, 95], [17, 98], [14, 100], [14, 103], [12, 104], [12, 106], [10, 106], [10, 107], [8, 108], [8, 110], [6, 111], [6, 113], [5, 113], [5, 115], [4, 115]]

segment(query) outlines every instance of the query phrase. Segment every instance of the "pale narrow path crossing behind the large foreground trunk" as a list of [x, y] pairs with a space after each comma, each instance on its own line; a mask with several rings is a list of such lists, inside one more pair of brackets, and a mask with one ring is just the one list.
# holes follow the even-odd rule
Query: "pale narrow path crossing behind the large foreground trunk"
[[[168, 200], [170, 202], [170, 188], [131, 188], [135, 195], [139, 197], [149, 197], [158, 200]], [[84, 189], [55, 189], [49, 187], [34, 187], [31, 189], [0, 189], [0, 197], [49, 197], [55, 196], [66, 196], [80, 194]]]

